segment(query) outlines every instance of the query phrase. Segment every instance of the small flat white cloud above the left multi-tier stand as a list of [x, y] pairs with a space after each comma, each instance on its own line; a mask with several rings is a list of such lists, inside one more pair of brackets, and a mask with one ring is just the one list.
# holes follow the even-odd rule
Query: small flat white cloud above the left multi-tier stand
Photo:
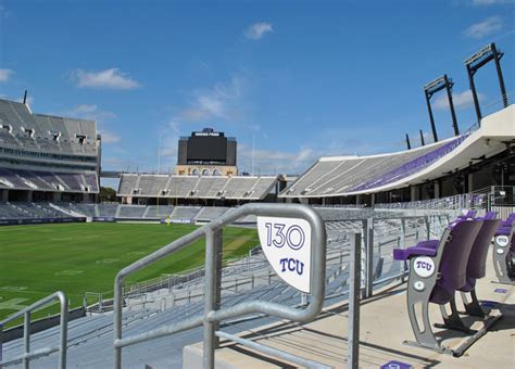
[[108, 88], [115, 90], [131, 90], [141, 85], [118, 68], [92, 72], [76, 69], [71, 73], [71, 78], [78, 87]]

